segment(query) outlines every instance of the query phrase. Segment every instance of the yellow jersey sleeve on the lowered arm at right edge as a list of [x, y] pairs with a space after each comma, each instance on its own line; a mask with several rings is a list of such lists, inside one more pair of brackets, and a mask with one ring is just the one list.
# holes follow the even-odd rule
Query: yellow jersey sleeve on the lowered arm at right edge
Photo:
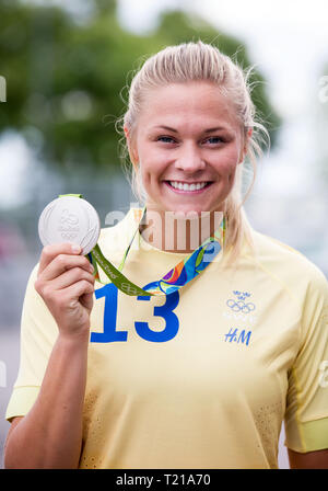
[[289, 372], [285, 445], [306, 453], [328, 448], [328, 283], [316, 270], [303, 306], [301, 343]]

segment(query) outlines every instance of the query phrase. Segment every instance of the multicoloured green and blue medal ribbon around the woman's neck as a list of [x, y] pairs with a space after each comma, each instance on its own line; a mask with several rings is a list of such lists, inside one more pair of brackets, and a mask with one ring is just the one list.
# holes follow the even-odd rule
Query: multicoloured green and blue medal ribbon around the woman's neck
[[[82, 195], [74, 195], [82, 197]], [[145, 215], [145, 206], [141, 212], [141, 220]], [[140, 288], [134, 283], [130, 282], [122, 273], [121, 270], [126, 262], [127, 255], [133, 242], [137, 231], [139, 230], [140, 221], [134, 230], [134, 233], [130, 240], [130, 243], [124, 254], [124, 258], [118, 266], [115, 267], [102, 253], [101, 248], [96, 244], [93, 250], [87, 254], [87, 258], [92, 265], [94, 266], [94, 276], [97, 282], [106, 285], [108, 283], [114, 283], [117, 288], [124, 292], [126, 295], [130, 296], [159, 296], [159, 295], [169, 295], [187, 283], [191, 282], [196, 276], [198, 276], [218, 255], [224, 243], [225, 236], [225, 217], [223, 217], [219, 228], [214, 231], [213, 236], [206, 239], [202, 244], [184, 258], [175, 267], [169, 270], [161, 279], [152, 282], [147, 288]], [[99, 278], [98, 266], [108, 277], [109, 282], [102, 282]]]

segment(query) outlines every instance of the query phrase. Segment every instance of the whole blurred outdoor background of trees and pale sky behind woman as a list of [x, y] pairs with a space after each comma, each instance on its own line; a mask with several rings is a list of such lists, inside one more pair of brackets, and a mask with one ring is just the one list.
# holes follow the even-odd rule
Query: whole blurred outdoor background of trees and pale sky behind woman
[[58, 194], [82, 193], [105, 226], [108, 212], [136, 204], [115, 123], [151, 54], [200, 38], [255, 65], [271, 148], [246, 212], [328, 276], [327, 18], [325, 0], [0, 0], [0, 467], [39, 214]]

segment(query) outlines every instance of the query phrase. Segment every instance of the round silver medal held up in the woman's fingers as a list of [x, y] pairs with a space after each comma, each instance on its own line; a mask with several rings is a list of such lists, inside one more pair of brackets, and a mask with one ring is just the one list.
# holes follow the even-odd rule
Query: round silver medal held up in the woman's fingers
[[38, 235], [44, 246], [72, 242], [89, 252], [97, 243], [101, 220], [97, 212], [78, 196], [61, 196], [49, 203], [38, 220]]

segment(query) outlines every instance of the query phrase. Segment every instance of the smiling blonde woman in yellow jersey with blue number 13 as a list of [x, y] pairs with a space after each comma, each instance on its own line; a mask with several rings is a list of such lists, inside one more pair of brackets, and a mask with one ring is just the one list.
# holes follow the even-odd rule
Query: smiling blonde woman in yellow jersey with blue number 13
[[104, 255], [119, 264], [137, 227], [124, 273], [147, 288], [218, 230], [221, 250], [180, 289], [131, 297], [79, 249], [46, 247], [5, 466], [276, 468], [284, 420], [291, 466], [327, 468], [328, 285], [245, 216], [243, 162], [265, 132], [247, 75], [201, 42], [168, 47], [136, 75], [122, 123], [145, 215], [103, 229]]

